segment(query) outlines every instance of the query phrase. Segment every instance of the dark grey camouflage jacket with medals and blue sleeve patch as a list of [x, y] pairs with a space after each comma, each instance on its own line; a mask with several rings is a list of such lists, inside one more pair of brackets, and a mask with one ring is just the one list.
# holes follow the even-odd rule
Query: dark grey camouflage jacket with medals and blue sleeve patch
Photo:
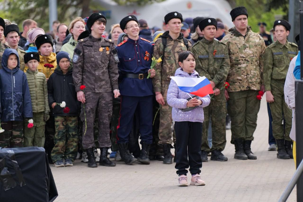
[[89, 35], [78, 41], [73, 56], [76, 92], [85, 85], [86, 92], [105, 93], [118, 89], [118, 55], [111, 39]]

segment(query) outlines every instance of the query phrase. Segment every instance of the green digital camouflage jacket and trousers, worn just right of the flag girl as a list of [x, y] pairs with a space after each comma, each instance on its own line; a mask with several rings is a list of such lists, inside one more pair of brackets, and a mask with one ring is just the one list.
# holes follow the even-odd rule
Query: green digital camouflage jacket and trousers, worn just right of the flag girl
[[[230, 61], [228, 56], [228, 47], [221, 41], [208, 41], [205, 38], [192, 46], [191, 52], [195, 54], [195, 70], [200, 76], [205, 76], [208, 80], [215, 82], [215, 88], [221, 89], [224, 86]], [[223, 151], [226, 145], [226, 100], [224, 89], [220, 94], [213, 96], [210, 104], [203, 109], [204, 121], [202, 128], [201, 150], [210, 152], [210, 150]], [[211, 116], [212, 128], [212, 147], [208, 146], [208, 125]]]

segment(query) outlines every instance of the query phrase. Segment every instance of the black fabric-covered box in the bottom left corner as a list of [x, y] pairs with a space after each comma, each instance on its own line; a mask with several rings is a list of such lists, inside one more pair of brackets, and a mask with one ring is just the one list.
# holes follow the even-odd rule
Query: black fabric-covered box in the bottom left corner
[[42, 147], [0, 148], [0, 201], [54, 201], [58, 196]]

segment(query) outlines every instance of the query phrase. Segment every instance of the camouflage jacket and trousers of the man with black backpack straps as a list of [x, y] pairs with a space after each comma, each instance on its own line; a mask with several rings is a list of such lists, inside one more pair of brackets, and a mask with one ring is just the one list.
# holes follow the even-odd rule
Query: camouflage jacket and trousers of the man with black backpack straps
[[[175, 76], [175, 71], [179, 68], [178, 56], [182, 51], [186, 51], [187, 47], [183, 42], [183, 34], [180, 33], [178, 39], [171, 39], [167, 32], [155, 42], [153, 56], [158, 59], [163, 55], [163, 44], [161, 37], [166, 37], [166, 47], [163, 65], [161, 62], [157, 63], [155, 69], [157, 70], [156, 76], [153, 78], [153, 85], [155, 92], [161, 92], [165, 105], [161, 106], [160, 110], [160, 126], [159, 126], [159, 144], [172, 144], [171, 140], [171, 106], [167, 104], [166, 94], [170, 83], [170, 76]], [[191, 48], [191, 42], [188, 41], [188, 50]]]

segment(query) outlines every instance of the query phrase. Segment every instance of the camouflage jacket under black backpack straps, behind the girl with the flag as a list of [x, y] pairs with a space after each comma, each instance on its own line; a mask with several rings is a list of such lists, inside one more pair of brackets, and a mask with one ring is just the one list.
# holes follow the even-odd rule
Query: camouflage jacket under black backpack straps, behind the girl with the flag
[[[166, 37], [166, 47], [163, 65], [161, 62], [158, 62], [155, 66], [157, 70], [156, 76], [152, 79], [154, 84], [154, 91], [161, 92], [161, 81], [170, 82], [170, 76], [175, 75], [175, 71], [179, 68], [178, 56], [182, 51], [186, 51], [186, 45], [183, 42], [183, 34], [180, 33], [178, 39], [171, 39], [171, 36], [167, 32], [164, 32], [163, 35], [155, 42], [153, 56], [158, 59], [163, 55], [163, 44], [162, 37]], [[188, 50], [191, 48], [191, 42], [188, 40]]]

